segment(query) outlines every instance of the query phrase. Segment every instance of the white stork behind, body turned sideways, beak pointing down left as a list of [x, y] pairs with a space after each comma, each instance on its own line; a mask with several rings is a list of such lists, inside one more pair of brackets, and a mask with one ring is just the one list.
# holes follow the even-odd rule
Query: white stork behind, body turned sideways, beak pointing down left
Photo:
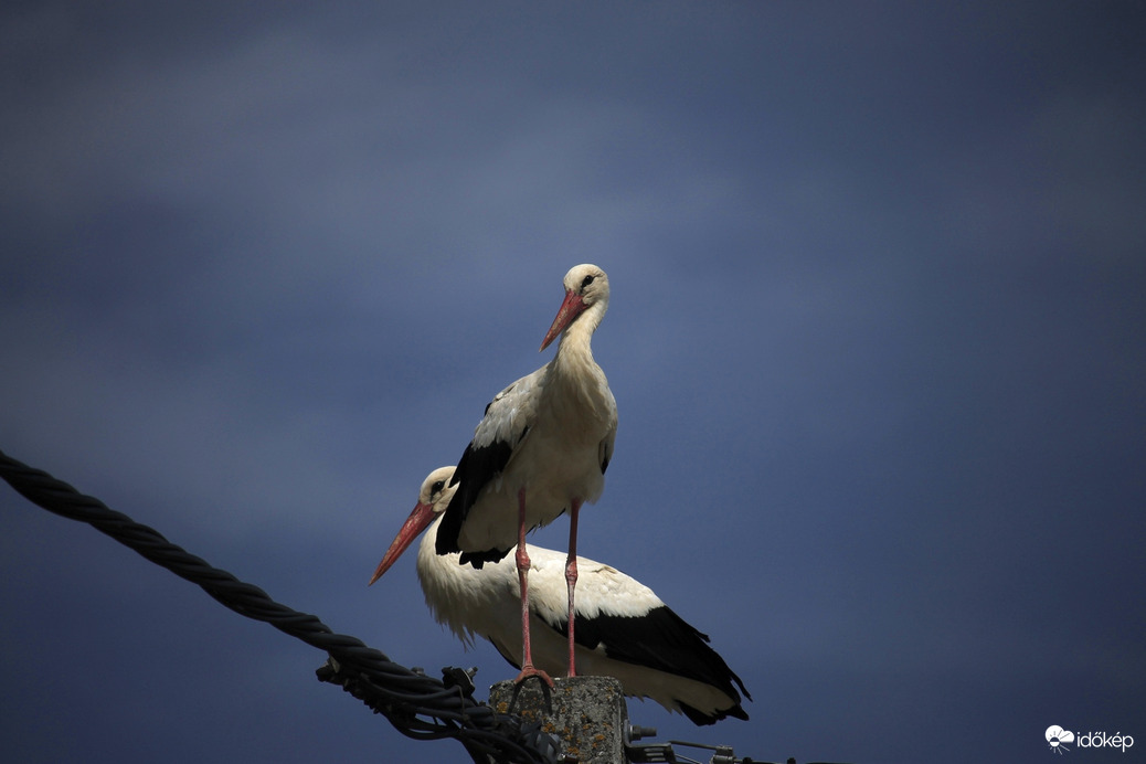
[[[422, 483], [418, 502], [378, 564], [372, 584], [430, 526], [418, 548], [418, 581], [434, 619], [466, 645], [485, 637], [511, 664], [521, 653], [517, 628], [518, 577], [509, 560], [480, 569], [458, 564], [460, 554], [439, 556], [434, 545], [444, 525], [441, 512], [454, 496], [454, 467], [434, 470]], [[431, 525], [432, 523], [432, 525]], [[534, 655], [542, 670], [558, 672], [565, 661], [570, 631], [565, 612], [564, 554], [529, 546], [529, 621]], [[744, 683], [708, 646], [708, 637], [670, 611], [644, 584], [620, 570], [587, 558], [581, 569], [574, 623], [576, 661], [582, 674], [621, 680], [625, 694], [651, 698], [694, 724], [725, 717], [747, 719], [740, 692]], [[735, 685], [733, 685], [735, 683]]]

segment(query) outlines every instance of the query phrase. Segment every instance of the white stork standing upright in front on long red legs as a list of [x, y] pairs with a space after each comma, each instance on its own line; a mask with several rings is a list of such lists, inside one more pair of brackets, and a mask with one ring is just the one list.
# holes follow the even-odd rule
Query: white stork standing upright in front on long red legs
[[[452, 486], [457, 490], [438, 534], [439, 554], [461, 552], [461, 565], [480, 568], [517, 548], [521, 593], [521, 674], [534, 667], [529, 643], [529, 556], [525, 533], [570, 513], [565, 578], [568, 616], [576, 585], [576, 523], [583, 502], [596, 502], [617, 438], [617, 402], [590, 340], [609, 308], [609, 277], [592, 265], [565, 274], [565, 299], [541, 342], [560, 334], [552, 361], [500, 392], [486, 407]], [[568, 676], [574, 676], [574, 633], [568, 630]]]

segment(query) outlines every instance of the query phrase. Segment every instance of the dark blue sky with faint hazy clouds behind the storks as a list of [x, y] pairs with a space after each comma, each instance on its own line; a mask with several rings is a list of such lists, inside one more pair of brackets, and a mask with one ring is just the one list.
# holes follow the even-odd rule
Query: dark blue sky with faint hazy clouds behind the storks
[[[634, 722], [779, 761], [1146, 745], [1143, 6], [18, 5], [8, 454], [488, 685], [413, 558], [366, 582], [596, 262], [620, 428], [579, 549], [755, 699]], [[14, 761], [468, 761], [7, 488], [0, 612]]]

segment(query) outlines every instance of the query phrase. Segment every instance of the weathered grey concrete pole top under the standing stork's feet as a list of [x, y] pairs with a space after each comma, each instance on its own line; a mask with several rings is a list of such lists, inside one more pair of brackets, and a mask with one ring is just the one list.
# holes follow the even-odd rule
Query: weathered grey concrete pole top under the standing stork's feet
[[[500, 714], [517, 714], [560, 740], [562, 754], [580, 764], [623, 764], [628, 709], [621, 683], [612, 677], [554, 679], [549, 690], [537, 679], [521, 685], [499, 682], [489, 704]], [[547, 704], [548, 700], [548, 704]]]

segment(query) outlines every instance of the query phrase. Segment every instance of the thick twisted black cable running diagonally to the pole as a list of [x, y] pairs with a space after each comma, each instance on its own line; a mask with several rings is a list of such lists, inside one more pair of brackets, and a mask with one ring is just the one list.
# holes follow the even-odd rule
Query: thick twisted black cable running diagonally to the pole
[[281, 605], [253, 584], [214, 568], [159, 531], [140, 525], [97, 498], [85, 496], [42, 470], [0, 451], [0, 478], [21, 496], [61, 517], [87, 522], [151, 562], [202, 588], [219, 604], [327, 652], [319, 669], [323, 682], [345, 691], [385, 716], [394, 727], [417, 740], [454, 738], [474, 762], [539, 764], [554, 762], [549, 741], [535, 725], [523, 727], [517, 716], [496, 714], [462, 687], [447, 687], [433, 677], [392, 662], [360, 639], [335, 633], [317, 616]]

